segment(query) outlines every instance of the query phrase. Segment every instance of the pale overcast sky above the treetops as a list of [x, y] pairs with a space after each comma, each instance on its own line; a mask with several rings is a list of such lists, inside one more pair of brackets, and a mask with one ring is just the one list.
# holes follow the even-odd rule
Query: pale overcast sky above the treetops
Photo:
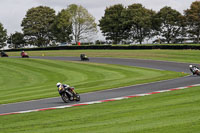
[[7, 29], [8, 35], [21, 31], [21, 22], [28, 9], [40, 5], [49, 6], [56, 10], [67, 8], [70, 4], [85, 7], [95, 18], [96, 22], [104, 15], [106, 7], [115, 4], [124, 6], [141, 3], [148, 9], [159, 11], [164, 6], [170, 6], [183, 13], [195, 0], [0, 0], [0, 22]]

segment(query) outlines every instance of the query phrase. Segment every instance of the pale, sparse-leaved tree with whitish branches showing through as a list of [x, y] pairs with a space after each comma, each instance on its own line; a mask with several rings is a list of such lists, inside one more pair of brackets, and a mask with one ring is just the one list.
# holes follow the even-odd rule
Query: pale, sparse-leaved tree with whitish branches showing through
[[71, 4], [66, 9], [70, 15], [72, 24], [72, 36], [74, 41], [89, 40], [97, 33], [97, 24], [94, 17], [82, 6]]

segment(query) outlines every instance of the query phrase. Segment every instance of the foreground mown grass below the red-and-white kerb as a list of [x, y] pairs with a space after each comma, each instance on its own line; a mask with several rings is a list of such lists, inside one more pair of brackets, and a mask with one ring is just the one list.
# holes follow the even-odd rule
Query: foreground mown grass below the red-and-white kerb
[[200, 87], [0, 117], [1, 133], [199, 133]]

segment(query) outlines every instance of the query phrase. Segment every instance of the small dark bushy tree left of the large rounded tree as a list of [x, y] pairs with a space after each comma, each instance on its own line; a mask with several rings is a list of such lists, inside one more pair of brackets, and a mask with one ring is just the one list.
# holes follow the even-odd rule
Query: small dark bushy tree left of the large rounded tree
[[15, 32], [11, 34], [7, 40], [7, 43], [10, 44], [9, 48], [22, 48], [25, 45], [24, 34], [20, 32]]

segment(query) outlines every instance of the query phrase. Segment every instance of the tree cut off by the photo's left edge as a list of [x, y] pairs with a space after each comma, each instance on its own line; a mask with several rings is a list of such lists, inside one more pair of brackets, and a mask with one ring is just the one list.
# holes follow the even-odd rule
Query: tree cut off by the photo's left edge
[[3, 25], [0, 23], [0, 48], [6, 46], [7, 40], [7, 30], [4, 29]]

